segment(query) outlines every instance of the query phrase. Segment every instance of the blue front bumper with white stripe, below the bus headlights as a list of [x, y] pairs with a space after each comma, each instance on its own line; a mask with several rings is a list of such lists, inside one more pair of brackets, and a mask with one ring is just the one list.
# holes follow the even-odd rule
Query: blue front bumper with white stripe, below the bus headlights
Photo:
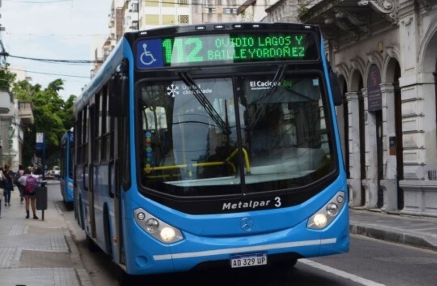
[[[308, 220], [298, 225], [273, 232], [238, 237], [200, 237], [183, 232], [184, 240], [166, 245], [149, 236], [132, 223], [134, 237], [126, 246], [129, 254], [127, 272], [144, 275], [163, 272], [180, 272], [208, 262], [228, 261], [233, 254], [267, 253], [291, 254], [293, 257], [315, 257], [349, 251], [349, 215], [347, 205], [323, 230], [307, 228]], [[134, 255], [132, 255], [134, 254]], [[213, 264], [213, 263], [212, 263]], [[219, 264], [219, 263], [217, 263]]]

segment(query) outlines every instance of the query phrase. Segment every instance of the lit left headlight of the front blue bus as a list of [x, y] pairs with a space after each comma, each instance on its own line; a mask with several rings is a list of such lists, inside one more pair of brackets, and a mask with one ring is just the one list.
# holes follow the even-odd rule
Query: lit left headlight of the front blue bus
[[180, 230], [149, 214], [142, 208], [134, 210], [134, 218], [146, 233], [162, 243], [170, 244], [184, 239]]

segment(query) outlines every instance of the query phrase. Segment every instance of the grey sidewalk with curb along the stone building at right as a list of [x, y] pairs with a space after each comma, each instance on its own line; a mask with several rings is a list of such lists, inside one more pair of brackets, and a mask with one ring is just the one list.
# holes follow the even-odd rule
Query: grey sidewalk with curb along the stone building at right
[[437, 218], [350, 209], [350, 233], [437, 251]]

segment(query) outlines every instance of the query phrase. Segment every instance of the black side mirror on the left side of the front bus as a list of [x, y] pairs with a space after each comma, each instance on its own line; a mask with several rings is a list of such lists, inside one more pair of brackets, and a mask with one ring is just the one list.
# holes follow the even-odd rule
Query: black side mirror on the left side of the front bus
[[126, 115], [128, 102], [129, 81], [128, 77], [113, 80], [111, 94], [108, 97], [108, 113], [111, 117], [123, 117]]

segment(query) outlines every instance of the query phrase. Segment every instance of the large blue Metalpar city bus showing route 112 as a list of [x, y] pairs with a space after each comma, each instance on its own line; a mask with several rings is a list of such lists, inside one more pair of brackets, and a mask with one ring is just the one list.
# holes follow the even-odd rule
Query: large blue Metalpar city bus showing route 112
[[316, 25], [124, 34], [74, 105], [90, 247], [130, 275], [347, 252], [341, 103]]

